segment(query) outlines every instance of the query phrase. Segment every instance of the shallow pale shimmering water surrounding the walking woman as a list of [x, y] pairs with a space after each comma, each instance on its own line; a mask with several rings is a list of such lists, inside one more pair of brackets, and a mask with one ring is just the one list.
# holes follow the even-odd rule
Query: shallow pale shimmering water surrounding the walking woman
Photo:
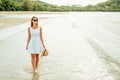
[[120, 80], [119, 12], [36, 16], [49, 56], [40, 59], [39, 72], [33, 74], [30, 54], [25, 50], [29, 21], [23, 28], [18, 25], [0, 31], [0, 80]]

